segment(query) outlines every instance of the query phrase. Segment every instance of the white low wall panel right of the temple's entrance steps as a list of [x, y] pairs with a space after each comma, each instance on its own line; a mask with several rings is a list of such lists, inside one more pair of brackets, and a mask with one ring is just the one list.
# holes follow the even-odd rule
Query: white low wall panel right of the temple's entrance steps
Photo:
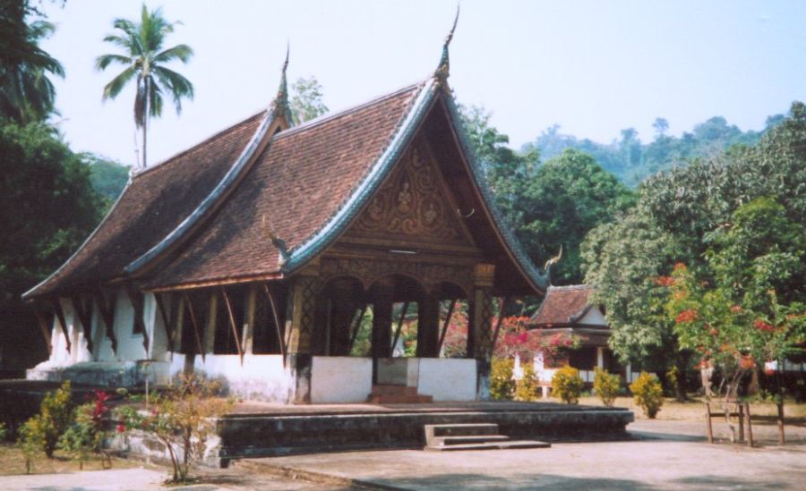
[[453, 358], [421, 358], [419, 360], [419, 394], [431, 395], [434, 401], [475, 401], [476, 360]]

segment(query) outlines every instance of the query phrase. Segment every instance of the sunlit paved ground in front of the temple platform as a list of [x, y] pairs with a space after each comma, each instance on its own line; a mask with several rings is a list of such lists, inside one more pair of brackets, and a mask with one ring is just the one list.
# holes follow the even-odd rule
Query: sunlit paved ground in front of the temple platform
[[[707, 444], [703, 424], [639, 421], [642, 439], [553, 444], [550, 449], [463, 453], [387, 451], [255, 459], [250, 469], [328, 475], [343, 483], [386, 489], [804, 489], [806, 438], [785, 447]], [[772, 431], [772, 433], [771, 433]], [[775, 428], [759, 428], [759, 436]]]

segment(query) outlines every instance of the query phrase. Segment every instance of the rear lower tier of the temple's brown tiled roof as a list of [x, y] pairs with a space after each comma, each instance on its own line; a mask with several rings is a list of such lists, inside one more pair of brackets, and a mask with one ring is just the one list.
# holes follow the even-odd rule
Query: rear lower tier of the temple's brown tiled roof
[[252, 138], [263, 115], [255, 114], [136, 174], [81, 249], [26, 297], [88, 288], [123, 275], [129, 262], [174, 230], [210, 194]]

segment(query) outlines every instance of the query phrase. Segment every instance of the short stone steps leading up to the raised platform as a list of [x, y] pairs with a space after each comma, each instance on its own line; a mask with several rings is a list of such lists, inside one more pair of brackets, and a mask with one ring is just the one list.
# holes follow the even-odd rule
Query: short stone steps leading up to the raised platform
[[551, 444], [536, 440], [512, 440], [499, 434], [494, 423], [425, 425], [425, 448], [435, 452], [455, 450], [493, 450], [513, 448], [548, 448]]

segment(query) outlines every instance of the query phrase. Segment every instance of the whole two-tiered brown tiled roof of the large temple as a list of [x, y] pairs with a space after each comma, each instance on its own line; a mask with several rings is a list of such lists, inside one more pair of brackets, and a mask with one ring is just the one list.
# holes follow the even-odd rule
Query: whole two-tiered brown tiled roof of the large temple
[[498, 265], [496, 283], [542, 292], [547, 272], [532, 265], [493, 205], [447, 69], [443, 55], [426, 80], [291, 127], [284, 67], [267, 111], [135, 174], [81, 249], [26, 298], [116, 281], [159, 291], [292, 275], [347, 230], [423, 131], [450, 163], [442, 172], [470, 210], [463, 218], [475, 241]]

